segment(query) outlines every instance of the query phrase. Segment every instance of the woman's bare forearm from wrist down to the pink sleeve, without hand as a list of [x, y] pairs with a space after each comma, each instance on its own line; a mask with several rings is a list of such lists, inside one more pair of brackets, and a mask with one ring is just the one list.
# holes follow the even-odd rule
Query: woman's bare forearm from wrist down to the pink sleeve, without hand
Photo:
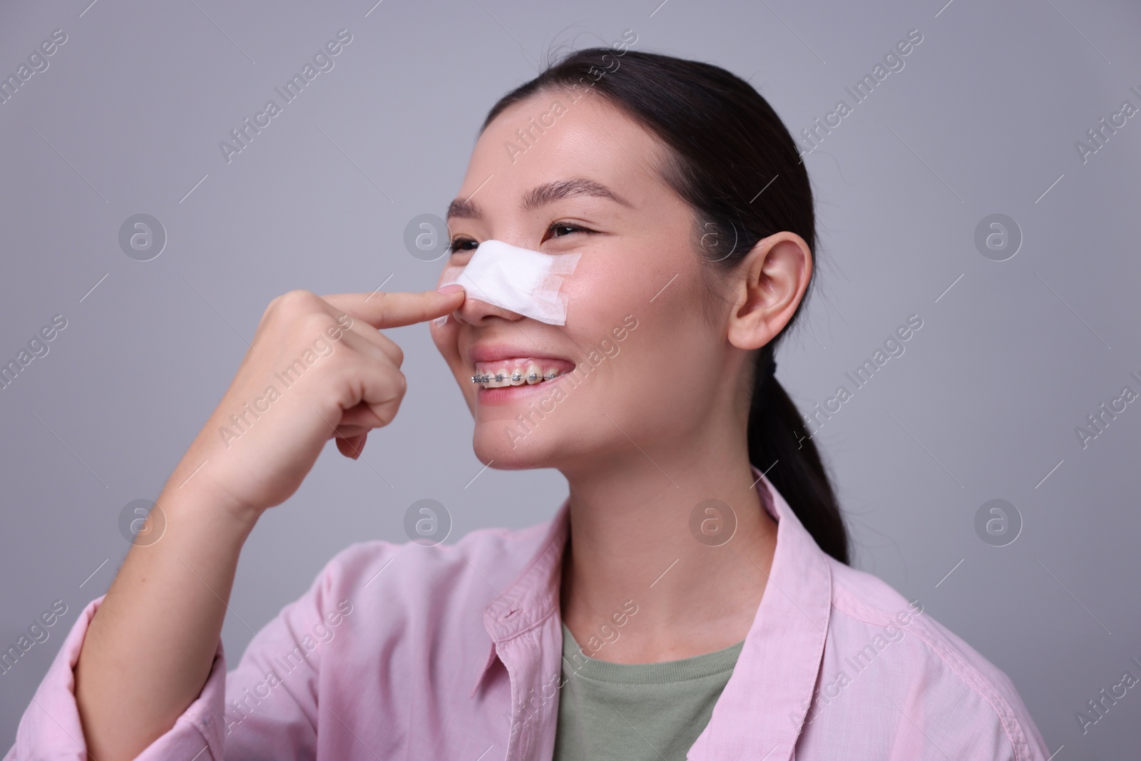
[[131, 547], [75, 665], [83, 734], [99, 761], [133, 759], [201, 693], [256, 520], [169, 485], [157, 504], [164, 533]]

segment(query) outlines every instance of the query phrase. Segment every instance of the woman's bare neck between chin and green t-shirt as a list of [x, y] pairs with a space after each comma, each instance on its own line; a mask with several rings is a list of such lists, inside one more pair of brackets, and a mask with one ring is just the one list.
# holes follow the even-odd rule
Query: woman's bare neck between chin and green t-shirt
[[[729, 437], [710, 438], [696, 446], [631, 446], [563, 469], [570, 492], [563, 620], [592, 657], [672, 661], [747, 634], [776, 549], [776, 523], [752, 486], [745, 443], [718, 446]], [[725, 533], [702, 542], [690, 529], [706, 500], [728, 504], [736, 517], [723, 544], [715, 545]], [[697, 512], [695, 523], [717, 527], [715, 513]], [[726, 525], [733, 515], [722, 517]]]

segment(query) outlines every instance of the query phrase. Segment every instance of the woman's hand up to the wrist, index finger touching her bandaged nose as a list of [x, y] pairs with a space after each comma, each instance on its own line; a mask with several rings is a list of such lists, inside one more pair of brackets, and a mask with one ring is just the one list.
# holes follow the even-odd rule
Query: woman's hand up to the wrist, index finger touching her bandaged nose
[[432, 319], [462, 302], [459, 286], [446, 294], [277, 297], [171, 480], [193, 478], [193, 491], [216, 504], [258, 515], [298, 489], [331, 437], [346, 456], [361, 456], [369, 431], [393, 421], [406, 388], [404, 353], [378, 329]]

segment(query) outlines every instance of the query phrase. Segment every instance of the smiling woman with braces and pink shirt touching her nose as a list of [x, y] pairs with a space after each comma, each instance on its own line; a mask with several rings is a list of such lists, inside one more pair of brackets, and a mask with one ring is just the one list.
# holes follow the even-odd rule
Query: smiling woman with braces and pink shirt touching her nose
[[[492, 108], [448, 216], [455, 267], [487, 241], [578, 254], [565, 324], [458, 285], [275, 299], [159, 497], [162, 541], [84, 609], [9, 758], [1046, 758], [1001, 671], [847, 565], [772, 374], [812, 196], [747, 83], [574, 52]], [[378, 329], [421, 321], [479, 460], [557, 468], [567, 501], [454, 547], [349, 547], [226, 673], [245, 537], [330, 437], [357, 458], [393, 420], [402, 353]]]

